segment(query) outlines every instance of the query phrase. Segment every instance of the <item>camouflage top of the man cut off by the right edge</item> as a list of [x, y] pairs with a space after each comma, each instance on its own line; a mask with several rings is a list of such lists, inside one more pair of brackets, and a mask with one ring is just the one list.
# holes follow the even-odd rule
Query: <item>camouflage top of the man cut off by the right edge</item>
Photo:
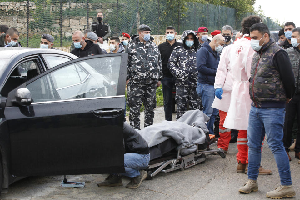
[[292, 68], [296, 80], [296, 94], [300, 94], [300, 50], [297, 47], [286, 49], [288, 57], [290, 57]]

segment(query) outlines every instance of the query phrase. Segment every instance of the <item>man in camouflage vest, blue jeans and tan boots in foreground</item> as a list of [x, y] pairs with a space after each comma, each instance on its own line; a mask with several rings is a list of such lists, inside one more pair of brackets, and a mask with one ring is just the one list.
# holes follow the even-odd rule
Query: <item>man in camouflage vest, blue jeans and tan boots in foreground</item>
[[290, 165], [285, 152], [283, 121], [285, 104], [295, 93], [295, 78], [287, 52], [270, 38], [263, 23], [250, 27], [251, 47], [256, 52], [252, 58], [249, 93], [252, 106], [248, 123], [248, 180], [239, 192], [258, 191], [258, 169], [262, 156], [262, 141], [267, 136], [281, 180], [277, 189], [267, 192], [269, 198], [295, 196]]

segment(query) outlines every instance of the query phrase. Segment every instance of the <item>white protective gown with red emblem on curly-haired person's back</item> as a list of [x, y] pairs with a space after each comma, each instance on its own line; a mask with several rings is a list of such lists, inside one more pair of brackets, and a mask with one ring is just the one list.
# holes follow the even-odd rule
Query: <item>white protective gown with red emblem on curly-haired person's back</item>
[[252, 100], [249, 95], [249, 79], [252, 57], [255, 51], [251, 48], [250, 37], [244, 35], [231, 44], [229, 60], [234, 77], [230, 106], [224, 121], [224, 127], [236, 130], [247, 130]]

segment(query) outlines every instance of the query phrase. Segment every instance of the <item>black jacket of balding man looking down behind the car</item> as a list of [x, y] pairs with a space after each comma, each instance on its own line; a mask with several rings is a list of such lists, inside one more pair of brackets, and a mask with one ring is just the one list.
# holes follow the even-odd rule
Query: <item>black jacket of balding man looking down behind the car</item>
[[85, 57], [85, 56], [93, 56], [98, 54], [107, 54], [107, 52], [100, 48], [99, 45], [94, 44], [91, 40], [84, 40], [87, 45], [84, 47], [84, 49], [73, 49], [70, 53], [74, 54], [75, 56], [78, 56], [79, 58]]

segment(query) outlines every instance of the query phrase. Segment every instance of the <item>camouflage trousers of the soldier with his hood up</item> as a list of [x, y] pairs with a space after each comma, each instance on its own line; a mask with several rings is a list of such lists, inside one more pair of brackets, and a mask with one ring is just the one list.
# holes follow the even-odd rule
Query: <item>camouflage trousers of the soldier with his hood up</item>
[[187, 106], [189, 106], [191, 110], [199, 109], [200, 99], [196, 92], [196, 86], [176, 86], [175, 101], [177, 103], [176, 120], [187, 112]]

